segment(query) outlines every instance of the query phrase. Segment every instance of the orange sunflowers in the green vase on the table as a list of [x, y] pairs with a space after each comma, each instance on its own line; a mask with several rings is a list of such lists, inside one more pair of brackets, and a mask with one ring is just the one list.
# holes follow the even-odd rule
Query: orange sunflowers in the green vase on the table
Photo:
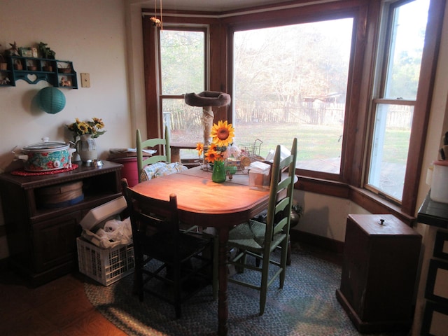
[[233, 138], [235, 137], [235, 129], [232, 124], [229, 124], [227, 120], [219, 120], [218, 124], [214, 124], [211, 127], [211, 144], [207, 148], [207, 152], [204, 153], [204, 144], [202, 142], [197, 143], [197, 153], [202, 156], [207, 162], [213, 164], [216, 161], [225, 161], [230, 157], [237, 158], [241, 151], [237, 145], [233, 144]]

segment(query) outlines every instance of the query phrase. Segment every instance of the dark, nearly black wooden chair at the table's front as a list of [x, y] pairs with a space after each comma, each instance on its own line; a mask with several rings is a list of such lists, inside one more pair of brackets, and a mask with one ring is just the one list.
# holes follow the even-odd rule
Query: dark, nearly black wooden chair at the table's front
[[150, 293], [173, 304], [180, 318], [181, 304], [216, 282], [213, 238], [179, 231], [176, 195], [158, 200], [134, 192], [126, 179], [121, 183], [132, 226], [134, 293], [140, 301]]

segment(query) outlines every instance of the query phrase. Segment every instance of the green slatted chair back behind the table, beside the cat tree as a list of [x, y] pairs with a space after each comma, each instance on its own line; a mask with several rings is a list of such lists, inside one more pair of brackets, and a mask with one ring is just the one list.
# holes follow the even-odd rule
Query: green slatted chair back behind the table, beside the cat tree
[[[154, 138], [141, 141], [140, 130], [137, 130], [137, 172], [139, 174], [139, 182], [141, 182], [141, 171], [147, 165], [152, 165], [157, 162], [171, 162], [171, 151], [169, 149], [169, 132], [168, 127], [165, 127], [165, 138]], [[157, 148], [158, 155], [145, 157], [143, 150], [145, 148]], [[162, 148], [162, 151], [160, 150]]]

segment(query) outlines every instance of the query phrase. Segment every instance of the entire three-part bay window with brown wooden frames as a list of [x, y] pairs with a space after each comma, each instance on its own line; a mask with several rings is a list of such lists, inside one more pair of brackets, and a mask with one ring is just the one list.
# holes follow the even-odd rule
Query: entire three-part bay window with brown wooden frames
[[[299, 188], [412, 221], [445, 2], [309, 0], [174, 13], [161, 34], [144, 20], [148, 134], [160, 134], [163, 115], [172, 141], [201, 141], [202, 111], [182, 94], [227, 92], [231, 109], [217, 109], [215, 120], [235, 125], [237, 144], [261, 139], [265, 155], [297, 137]], [[419, 19], [406, 27], [413, 14]], [[179, 36], [165, 40], [168, 30]], [[202, 36], [195, 46], [185, 43], [190, 33]], [[180, 53], [171, 38], [185, 38]]]

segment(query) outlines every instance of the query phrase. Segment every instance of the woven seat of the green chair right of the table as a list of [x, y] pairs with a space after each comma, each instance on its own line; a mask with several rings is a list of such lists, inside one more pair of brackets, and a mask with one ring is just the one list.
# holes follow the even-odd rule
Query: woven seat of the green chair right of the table
[[[229, 232], [229, 244], [234, 247], [262, 253], [265, 246], [266, 224], [258, 221], [249, 221], [237, 225]], [[271, 243], [271, 251], [279, 246], [286, 238], [286, 234], [278, 233], [274, 235]]]

